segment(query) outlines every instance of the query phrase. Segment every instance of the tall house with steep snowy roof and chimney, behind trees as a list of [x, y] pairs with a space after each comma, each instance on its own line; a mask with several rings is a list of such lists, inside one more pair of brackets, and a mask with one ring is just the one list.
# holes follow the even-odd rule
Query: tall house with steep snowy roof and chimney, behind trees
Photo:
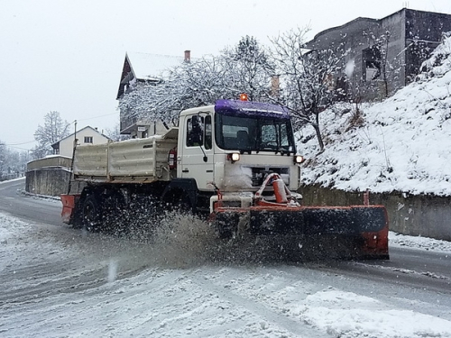
[[[141, 52], [127, 52], [125, 54], [121, 81], [116, 99], [120, 100], [124, 94], [133, 90], [136, 83], [147, 83], [158, 86], [165, 76], [165, 71], [179, 66], [183, 61], [190, 60], [190, 51], [185, 50], [184, 57], [156, 55]], [[144, 138], [161, 133], [166, 128], [162, 123], [137, 119], [127, 112], [120, 112], [120, 132], [130, 134], [131, 137]]]

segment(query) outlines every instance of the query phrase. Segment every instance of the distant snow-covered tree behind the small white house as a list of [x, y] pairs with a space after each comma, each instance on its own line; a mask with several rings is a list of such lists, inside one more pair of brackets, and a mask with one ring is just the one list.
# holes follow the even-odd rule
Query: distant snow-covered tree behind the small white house
[[69, 123], [63, 121], [60, 113], [51, 111], [44, 116], [44, 125], [38, 125], [34, 139], [38, 145], [32, 149], [32, 157], [40, 159], [51, 154], [51, 144], [69, 135]]

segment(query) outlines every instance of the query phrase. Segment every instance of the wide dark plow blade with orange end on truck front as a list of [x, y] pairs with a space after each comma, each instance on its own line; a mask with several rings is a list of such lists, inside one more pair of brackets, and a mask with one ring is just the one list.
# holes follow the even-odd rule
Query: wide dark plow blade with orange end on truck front
[[222, 237], [235, 233], [283, 237], [306, 250], [339, 252], [341, 258], [389, 259], [384, 206], [216, 208]]

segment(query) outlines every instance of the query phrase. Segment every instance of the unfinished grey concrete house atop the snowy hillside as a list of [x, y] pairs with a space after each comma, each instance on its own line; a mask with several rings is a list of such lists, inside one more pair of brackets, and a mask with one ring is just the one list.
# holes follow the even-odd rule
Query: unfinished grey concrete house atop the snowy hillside
[[382, 19], [359, 17], [319, 32], [306, 47], [345, 55], [341, 72], [333, 77], [337, 93], [373, 100], [413, 81], [445, 32], [451, 32], [450, 14], [403, 8]]

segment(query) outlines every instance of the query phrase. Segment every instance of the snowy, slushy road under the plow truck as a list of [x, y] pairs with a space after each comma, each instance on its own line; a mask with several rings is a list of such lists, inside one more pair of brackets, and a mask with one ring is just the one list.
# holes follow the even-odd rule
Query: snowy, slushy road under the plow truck
[[[44, 222], [58, 202], [2, 188], [2, 337], [451, 337], [446, 242], [391, 234], [382, 262], [211, 262], [194, 244]], [[34, 221], [5, 211], [32, 201]]]

